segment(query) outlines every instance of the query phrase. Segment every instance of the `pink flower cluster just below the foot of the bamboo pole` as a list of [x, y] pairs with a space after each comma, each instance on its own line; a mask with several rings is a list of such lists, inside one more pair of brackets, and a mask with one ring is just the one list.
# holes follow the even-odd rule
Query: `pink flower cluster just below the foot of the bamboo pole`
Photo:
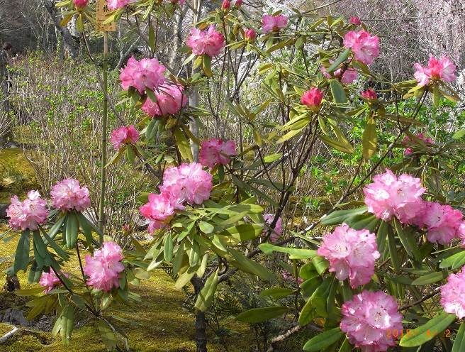
[[103, 246], [94, 251], [94, 256], [86, 255], [84, 274], [89, 276], [87, 285], [94, 286], [97, 290], [110, 292], [114, 287], [120, 287], [119, 279], [124, 270], [121, 263], [121, 247], [114, 242], [103, 242]]

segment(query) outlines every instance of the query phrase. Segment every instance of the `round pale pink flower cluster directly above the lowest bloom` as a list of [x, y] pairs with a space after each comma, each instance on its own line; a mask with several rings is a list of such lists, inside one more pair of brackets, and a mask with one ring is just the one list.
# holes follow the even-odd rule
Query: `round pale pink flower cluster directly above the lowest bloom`
[[357, 231], [347, 224], [327, 233], [316, 253], [330, 261], [329, 271], [336, 273], [337, 280], [349, 277], [352, 288], [371, 280], [374, 261], [379, 258], [374, 233], [365, 229]]

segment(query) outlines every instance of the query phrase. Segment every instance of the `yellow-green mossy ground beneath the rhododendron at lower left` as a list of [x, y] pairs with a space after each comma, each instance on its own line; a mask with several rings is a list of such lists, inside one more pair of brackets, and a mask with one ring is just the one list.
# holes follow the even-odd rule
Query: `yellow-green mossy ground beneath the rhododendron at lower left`
[[[0, 233], [3, 233], [7, 227], [0, 224]], [[0, 257], [7, 258], [14, 253], [16, 249], [16, 238], [4, 243], [0, 241]], [[0, 282], [5, 277], [4, 270], [13, 264], [12, 259], [0, 260]], [[78, 270], [77, 260], [70, 260], [67, 268], [69, 272]], [[21, 282], [21, 289], [28, 287], [37, 287], [37, 284], [29, 285], [26, 273], [18, 273]], [[1, 284], [2, 285], [2, 284]], [[0, 287], [1, 287], [0, 285]], [[195, 317], [192, 312], [185, 312], [182, 307], [186, 300], [186, 293], [182, 290], [174, 290], [174, 282], [163, 270], [154, 270], [150, 279], [141, 280], [138, 287], [131, 286], [130, 290], [140, 295], [142, 302], [130, 304], [129, 307], [121, 306], [121, 309], [134, 314], [122, 314], [122, 317], [137, 321], [138, 325], [121, 323], [120, 327], [129, 337], [130, 350], [134, 352], [166, 352], [179, 351], [190, 352], [196, 351], [194, 342]], [[17, 306], [17, 300], [13, 299], [15, 295], [11, 292], [0, 292], [0, 295], [9, 296], [13, 300], [11, 307]], [[23, 298], [23, 297], [18, 297]], [[18, 307], [28, 314], [28, 307]], [[78, 309], [75, 311], [78, 314]], [[39, 315], [41, 317], [42, 314]], [[77, 319], [78, 320], [78, 319]], [[100, 339], [96, 321], [82, 317], [75, 321], [75, 326], [71, 339], [71, 346], [65, 348], [62, 346], [60, 334], [53, 339], [49, 332], [44, 331], [19, 331], [6, 342], [1, 343], [0, 351], [2, 352], [19, 352], [19, 351], [106, 351]], [[234, 330], [239, 332], [238, 335], [231, 337], [228, 341], [228, 351], [251, 351], [254, 346], [252, 336], [247, 336], [249, 328], [247, 324], [234, 323]], [[11, 331], [11, 326], [0, 324], [0, 337]], [[213, 341], [213, 335], [208, 336], [209, 341]], [[234, 340], [232, 340], [234, 339]], [[225, 351], [223, 346], [215, 343], [208, 344], [208, 351], [220, 352]]]

